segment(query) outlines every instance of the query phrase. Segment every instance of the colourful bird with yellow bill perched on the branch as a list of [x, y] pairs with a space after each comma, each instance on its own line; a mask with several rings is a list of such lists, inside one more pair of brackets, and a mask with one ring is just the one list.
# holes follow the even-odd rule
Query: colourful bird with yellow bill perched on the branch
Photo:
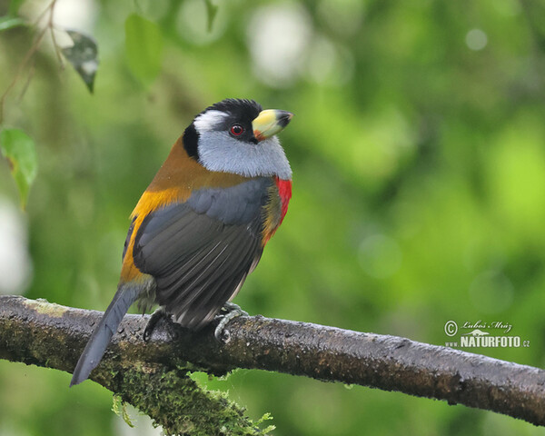
[[70, 386], [99, 364], [134, 302], [160, 308], [144, 339], [156, 314], [197, 331], [231, 307], [292, 198], [292, 168], [276, 136], [292, 116], [228, 98], [193, 118], [131, 214], [117, 292]]

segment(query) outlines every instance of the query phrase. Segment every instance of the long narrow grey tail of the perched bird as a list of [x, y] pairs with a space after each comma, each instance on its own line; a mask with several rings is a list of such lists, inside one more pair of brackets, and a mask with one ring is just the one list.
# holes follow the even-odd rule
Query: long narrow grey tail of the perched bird
[[77, 365], [75, 365], [70, 386], [86, 380], [101, 361], [110, 339], [112, 339], [119, 323], [123, 320], [124, 314], [138, 298], [140, 291], [140, 287], [123, 285], [115, 292], [114, 300], [104, 312], [102, 320], [94, 329], [89, 342], [85, 345], [84, 352], [82, 352]]

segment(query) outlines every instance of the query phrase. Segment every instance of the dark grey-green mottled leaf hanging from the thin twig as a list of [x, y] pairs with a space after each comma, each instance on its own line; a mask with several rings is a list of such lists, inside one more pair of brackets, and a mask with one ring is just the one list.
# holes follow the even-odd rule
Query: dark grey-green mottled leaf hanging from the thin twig
[[98, 47], [91, 36], [80, 34], [74, 30], [67, 30], [72, 38], [74, 45], [63, 48], [64, 57], [72, 66], [77, 74], [84, 79], [84, 83], [93, 94], [94, 76], [98, 70]]

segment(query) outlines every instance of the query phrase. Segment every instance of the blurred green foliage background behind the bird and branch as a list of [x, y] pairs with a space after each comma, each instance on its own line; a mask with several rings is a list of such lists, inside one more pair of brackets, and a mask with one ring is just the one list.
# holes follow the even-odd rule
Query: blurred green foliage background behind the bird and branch
[[[5, 125], [34, 138], [39, 173], [22, 213], [0, 162], [0, 292], [104, 310], [128, 216], [171, 145], [207, 105], [246, 97], [295, 114], [281, 134], [293, 197], [235, 302], [438, 345], [458, 339], [443, 330], [450, 320], [510, 323], [530, 347], [466, 351], [545, 366], [545, 6], [213, 5], [211, 31], [203, 0], [55, 5], [59, 27], [94, 35], [101, 64], [91, 95], [46, 37], [25, 95], [26, 74], [6, 101]], [[134, 13], [159, 29], [156, 71], [138, 74], [127, 56]], [[0, 33], [0, 93], [32, 36]], [[0, 434], [159, 434], [136, 411], [136, 428], [124, 424], [110, 392], [69, 380], [0, 361]], [[278, 373], [209, 384], [255, 419], [270, 411], [278, 436], [545, 434], [487, 411]]]

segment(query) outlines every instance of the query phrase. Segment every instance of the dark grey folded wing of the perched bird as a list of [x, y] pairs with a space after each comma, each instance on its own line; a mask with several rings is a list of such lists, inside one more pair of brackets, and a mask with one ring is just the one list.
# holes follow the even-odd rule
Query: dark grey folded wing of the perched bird
[[205, 189], [148, 215], [134, 240], [134, 264], [154, 276], [155, 299], [198, 329], [240, 289], [263, 252], [270, 178]]

